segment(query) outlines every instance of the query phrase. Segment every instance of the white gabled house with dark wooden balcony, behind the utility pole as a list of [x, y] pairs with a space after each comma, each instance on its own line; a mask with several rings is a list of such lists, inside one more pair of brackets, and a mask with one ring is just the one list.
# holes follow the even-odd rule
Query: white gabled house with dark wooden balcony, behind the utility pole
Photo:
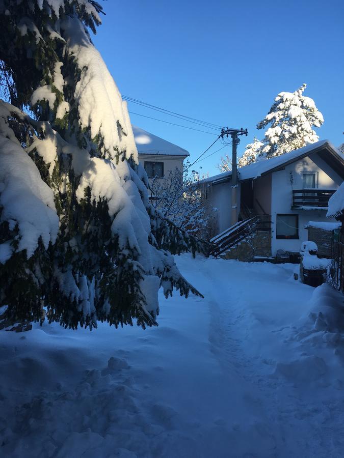
[[[343, 179], [344, 155], [328, 140], [238, 168], [238, 219], [264, 215], [271, 221], [271, 255], [279, 249], [298, 252], [308, 237], [308, 221], [329, 221], [328, 201]], [[231, 171], [204, 185], [222, 233], [231, 225]]]

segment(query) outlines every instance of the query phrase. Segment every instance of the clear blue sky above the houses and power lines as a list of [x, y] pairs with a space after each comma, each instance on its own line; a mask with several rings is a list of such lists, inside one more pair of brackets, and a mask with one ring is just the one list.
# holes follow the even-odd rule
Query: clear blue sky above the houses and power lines
[[[344, 2], [337, 0], [101, 2], [107, 16], [94, 43], [120, 92], [220, 126], [244, 127], [239, 155], [279, 92], [303, 82], [325, 123], [315, 129], [344, 142]], [[129, 103], [145, 116], [188, 125]], [[131, 122], [190, 152], [195, 160], [215, 135], [130, 115]], [[210, 132], [210, 131], [209, 131]], [[215, 132], [215, 131], [213, 131]], [[221, 148], [218, 141], [205, 155]], [[218, 173], [226, 147], [199, 162]], [[198, 169], [195, 165], [195, 168]]]

